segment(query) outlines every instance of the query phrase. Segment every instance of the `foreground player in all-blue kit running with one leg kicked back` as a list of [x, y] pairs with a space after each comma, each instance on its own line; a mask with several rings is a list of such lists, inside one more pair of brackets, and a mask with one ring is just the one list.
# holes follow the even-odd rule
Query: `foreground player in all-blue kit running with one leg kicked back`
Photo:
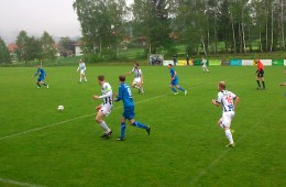
[[125, 84], [125, 76], [121, 75], [119, 76], [119, 92], [117, 96], [116, 101], [123, 101], [124, 112], [122, 114], [121, 119], [121, 135], [118, 139], [118, 141], [124, 141], [125, 140], [125, 121], [129, 120], [130, 124], [136, 128], [145, 129], [147, 134], [150, 135], [151, 128], [148, 125], [145, 125], [139, 121], [134, 120], [135, 113], [134, 113], [134, 102], [132, 98], [132, 92], [129, 87], [129, 85]]

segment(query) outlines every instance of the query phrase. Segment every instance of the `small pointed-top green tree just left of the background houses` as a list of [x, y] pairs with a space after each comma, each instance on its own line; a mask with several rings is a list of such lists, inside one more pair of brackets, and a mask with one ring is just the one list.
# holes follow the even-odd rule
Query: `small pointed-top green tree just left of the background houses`
[[47, 33], [44, 32], [42, 37], [40, 38], [42, 45], [42, 55], [43, 59], [52, 59], [56, 58], [56, 46], [54, 38]]

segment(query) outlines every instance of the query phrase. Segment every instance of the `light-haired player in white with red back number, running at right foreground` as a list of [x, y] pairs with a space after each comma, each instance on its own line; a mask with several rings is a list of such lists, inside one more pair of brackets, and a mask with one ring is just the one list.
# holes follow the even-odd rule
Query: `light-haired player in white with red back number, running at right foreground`
[[224, 129], [226, 135], [229, 140], [227, 147], [234, 147], [230, 125], [240, 98], [233, 92], [226, 90], [224, 81], [218, 84], [218, 90], [219, 94], [217, 100], [212, 99], [211, 102], [217, 107], [222, 106], [222, 118], [218, 121], [218, 124]]

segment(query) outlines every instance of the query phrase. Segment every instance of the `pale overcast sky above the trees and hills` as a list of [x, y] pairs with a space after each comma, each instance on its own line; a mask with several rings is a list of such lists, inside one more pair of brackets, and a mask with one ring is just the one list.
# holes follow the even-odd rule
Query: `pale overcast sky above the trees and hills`
[[[75, 0], [0, 0], [0, 36], [11, 43], [21, 30], [40, 36], [80, 36]], [[127, 0], [128, 3], [133, 0]]]

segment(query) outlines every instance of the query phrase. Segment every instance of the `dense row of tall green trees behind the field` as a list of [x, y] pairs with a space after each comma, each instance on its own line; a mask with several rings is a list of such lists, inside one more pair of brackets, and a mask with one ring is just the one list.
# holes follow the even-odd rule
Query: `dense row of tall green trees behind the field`
[[147, 53], [285, 51], [285, 0], [76, 0], [89, 51], [114, 52], [124, 36], [145, 37]]

